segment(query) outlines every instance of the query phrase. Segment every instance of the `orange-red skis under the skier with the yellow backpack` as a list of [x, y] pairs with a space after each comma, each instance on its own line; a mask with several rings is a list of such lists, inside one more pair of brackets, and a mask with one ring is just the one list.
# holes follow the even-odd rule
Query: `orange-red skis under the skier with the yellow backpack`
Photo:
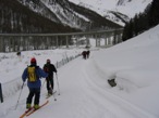
[[[42, 106], [47, 105], [48, 103], [49, 103], [49, 101], [46, 101], [44, 104], [41, 104], [41, 105], [39, 106], [38, 109], [40, 109]], [[38, 110], [38, 109], [35, 109], [34, 107], [30, 107], [30, 108], [27, 109], [23, 115], [21, 115], [20, 118], [24, 118], [25, 116], [27, 117], [27, 116], [32, 115], [33, 113], [35, 113], [35, 112]]]

